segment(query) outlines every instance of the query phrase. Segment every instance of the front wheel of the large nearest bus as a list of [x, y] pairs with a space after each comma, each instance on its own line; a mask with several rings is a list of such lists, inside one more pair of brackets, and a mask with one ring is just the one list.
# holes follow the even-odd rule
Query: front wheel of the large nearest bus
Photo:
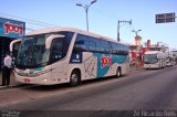
[[70, 86], [76, 86], [80, 83], [80, 73], [77, 71], [73, 71], [70, 77]]

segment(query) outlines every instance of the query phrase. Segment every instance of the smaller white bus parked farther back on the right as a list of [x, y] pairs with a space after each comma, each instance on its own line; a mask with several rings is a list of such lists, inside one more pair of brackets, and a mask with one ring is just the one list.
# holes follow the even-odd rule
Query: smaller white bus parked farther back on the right
[[143, 55], [144, 68], [166, 67], [167, 54], [160, 51], [147, 51]]

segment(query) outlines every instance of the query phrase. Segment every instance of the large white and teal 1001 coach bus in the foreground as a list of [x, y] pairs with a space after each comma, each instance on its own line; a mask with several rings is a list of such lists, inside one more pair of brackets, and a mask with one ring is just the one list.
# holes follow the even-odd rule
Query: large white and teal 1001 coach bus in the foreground
[[33, 31], [10, 44], [15, 59], [15, 81], [53, 85], [116, 75], [129, 71], [129, 46], [112, 39], [72, 28]]

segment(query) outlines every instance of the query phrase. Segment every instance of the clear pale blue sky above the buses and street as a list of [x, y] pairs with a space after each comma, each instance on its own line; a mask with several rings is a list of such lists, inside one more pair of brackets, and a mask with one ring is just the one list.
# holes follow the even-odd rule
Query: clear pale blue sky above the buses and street
[[[75, 3], [90, 3], [92, 0], [1, 0], [0, 17], [12, 14], [35, 21], [42, 21], [60, 26], [86, 29], [85, 11]], [[90, 7], [90, 31], [116, 39], [117, 20], [133, 20], [133, 25], [121, 26], [121, 39], [134, 43], [135, 30], [143, 42], [167, 43], [177, 49], [177, 22], [155, 23], [157, 13], [177, 13], [176, 0], [97, 0]], [[10, 17], [13, 18], [13, 17]], [[18, 19], [23, 20], [23, 19]], [[177, 19], [176, 19], [177, 20]], [[28, 29], [43, 29], [44, 26], [27, 23]]]

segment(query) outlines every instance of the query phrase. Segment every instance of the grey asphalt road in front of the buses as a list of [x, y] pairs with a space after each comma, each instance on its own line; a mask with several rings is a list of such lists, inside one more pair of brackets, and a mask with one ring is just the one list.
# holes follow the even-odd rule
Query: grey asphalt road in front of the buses
[[[27, 117], [177, 117], [177, 66], [67, 85], [0, 91], [0, 110]], [[11, 111], [8, 111], [11, 110]], [[14, 111], [15, 110], [15, 111]], [[126, 110], [126, 111], [125, 111]], [[153, 110], [153, 111], [150, 111]]]

